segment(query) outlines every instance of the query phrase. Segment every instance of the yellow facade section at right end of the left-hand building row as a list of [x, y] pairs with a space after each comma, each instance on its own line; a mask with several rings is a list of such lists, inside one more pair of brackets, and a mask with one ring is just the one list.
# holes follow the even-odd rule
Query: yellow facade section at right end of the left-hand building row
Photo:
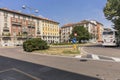
[[58, 23], [51, 21], [42, 21], [43, 39], [48, 43], [59, 43], [59, 26]]

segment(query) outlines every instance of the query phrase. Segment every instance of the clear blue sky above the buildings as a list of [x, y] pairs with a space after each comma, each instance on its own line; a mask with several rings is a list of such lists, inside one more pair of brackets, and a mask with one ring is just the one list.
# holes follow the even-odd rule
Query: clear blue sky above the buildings
[[[60, 23], [76, 23], [82, 20], [96, 20], [105, 27], [112, 23], [104, 17], [103, 8], [107, 0], [0, 0], [0, 8], [21, 11], [27, 14], [49, 18]], [[22, 9], [22, 6], [30, 7]], [[39, 10], [38, 13], [34, 9]]]

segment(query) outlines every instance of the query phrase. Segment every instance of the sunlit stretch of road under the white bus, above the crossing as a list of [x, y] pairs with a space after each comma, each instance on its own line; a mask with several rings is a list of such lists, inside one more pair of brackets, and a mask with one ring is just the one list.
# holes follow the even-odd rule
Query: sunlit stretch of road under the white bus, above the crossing
[[91, 54], [120, 58], [120, 47], [102, 47], [97, 44], [84, 47], [84, 51]]

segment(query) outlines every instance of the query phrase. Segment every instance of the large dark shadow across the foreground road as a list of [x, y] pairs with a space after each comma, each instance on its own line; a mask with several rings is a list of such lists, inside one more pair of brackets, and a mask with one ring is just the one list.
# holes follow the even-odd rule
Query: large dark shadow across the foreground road
[[0, 56], [0, 80], [101, 80], [101, 79]]

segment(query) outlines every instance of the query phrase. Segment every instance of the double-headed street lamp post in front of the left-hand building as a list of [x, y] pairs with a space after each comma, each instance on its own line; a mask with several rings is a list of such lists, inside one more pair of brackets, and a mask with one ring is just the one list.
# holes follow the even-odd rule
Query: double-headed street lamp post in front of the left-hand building
[[[29, 9], [29, 11], [30, 11], [30, 19], [32, 19], [32, 10], [35, 12], [35, 13], [38, 13], [39, 11], [37, 10], [37, 9], [34, 9], [34, 8], [32, 8], [32, 7], [29, 7], [29, 6], [26, 6], [26, 5], [23, 5], [22, 6], [22, 9]], [[28, 27], [28, 29], [29, 29], [29, 31], [28, 31], [28, 39], [29, 39], [29, 37], [31, 38], [31, 36], [32, 36], [32, 32], [31, 32], [31, 29], [32, 29], [32, 24], [31, 24], [31, 20], [30, 20], [30, 26]], [[30, 36], [29, 36], [30, 35]]]

